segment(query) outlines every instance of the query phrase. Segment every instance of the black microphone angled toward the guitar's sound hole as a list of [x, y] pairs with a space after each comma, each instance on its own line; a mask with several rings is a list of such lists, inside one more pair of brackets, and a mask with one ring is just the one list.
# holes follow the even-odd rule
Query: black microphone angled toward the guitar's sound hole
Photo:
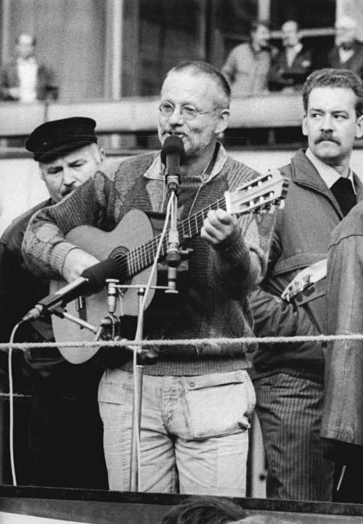
[[67, 304], [74, 298], [84, 293], [96, 293], [100, 291], [107, 278], [120, 278], [121, 268], [113, 258], [107, 258], [104, 261], [94, 264], [82, 271], [82, 275], [76, 278], [74, 282], [65, 285], [55, 293], [42, 298], [31, 310], [24, 315], [21, 323], [30, 322], [43, 317], [45, 313], [59, 304]]

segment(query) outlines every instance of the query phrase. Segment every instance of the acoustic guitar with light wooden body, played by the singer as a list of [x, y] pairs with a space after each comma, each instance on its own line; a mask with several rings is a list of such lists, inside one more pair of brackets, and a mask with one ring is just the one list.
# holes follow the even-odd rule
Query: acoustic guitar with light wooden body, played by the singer
[[[286, 196], [288, 180], [283, 178], [279, 170], [270, 170], [267, 175], [261, 175], [249, 180], [234, 192], [225, 192], [225, 195], [187, 217], [178, 224], [179, 241], [182, 242], [199, 234], [204, 219], [210, 209], [225, 209], [230, 214], [247, 214], [252, 212], [268, 212], [281, 204]], [[115, 258], [121, 268], [123, 283], [145, 285], [150, 277], [152, 263], [155, 259], [160, 235], [153, 236], [153, 227], [149, 217], [139, 209], [133, 209], [119, 222], [111, 232], [101, 231], [93, 226], [78, 226], [67, 234], [67, 241], [79, 248], [105, 260]], [[167, 235], [162, 243], [160, 259], [167, 253]], [[156, 285], [157, 275], [152, 280]], [[52, 281], [50, 293], [55, 293], [67, 283], [63, 280]], [[138, 289], [131, 288], [125, 291], [121, 305], [116, 315], [138, 315]], [[150, 289], [145, 303], [145, 309], [150, 305], [154, 296]], [[107, 315], [106, 288], [90, 296], [82, 296], [67, 304], [67, 312], [86, 320], [98, 327], [101, 320]], [[65, 309], [65, 308], [64, 308]], [[84, 342], [94, 341], [94, 333], [89, 329], [79, 327], [73, 322], [66, 322], [55, 315], [52, 316], [53, 331], [57, 342]], [[101, 343], [100, 343], [101, 346]], [[82, 364], [91, 359], [99, 351], [99, 347], [60, 348], [60, 353], [72, 364]]]

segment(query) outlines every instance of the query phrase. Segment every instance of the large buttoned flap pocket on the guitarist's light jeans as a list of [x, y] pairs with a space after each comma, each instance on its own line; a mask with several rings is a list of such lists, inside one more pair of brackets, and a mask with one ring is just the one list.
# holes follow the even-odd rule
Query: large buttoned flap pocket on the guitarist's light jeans
[[232, 435], [250, 427], [256, 397], [247, 371], [189, 376], [183, 383], [191, 439]]

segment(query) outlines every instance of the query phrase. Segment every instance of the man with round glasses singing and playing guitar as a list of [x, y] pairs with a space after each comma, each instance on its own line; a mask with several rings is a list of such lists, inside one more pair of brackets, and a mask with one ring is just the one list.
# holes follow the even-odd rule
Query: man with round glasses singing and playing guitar
[[[228, 125], [229, 106], [228, 82], [206, 62], [177, 65], [162, 85], [160, 142], [178, 136], [185, 150], [179, 219], [202, 209], [205, 219], [200, 235], [190, 240], [188, 286], [180, 290], [176, 303], [169, 302], [170, 295], [162, 295], [162, 312], [153, 314], [152, 305], [145, 312], [148, 339], [252, 334], [247, 295], [264, 275], [273, 215], [257, 221], [237, 219], [223, 209], [208, 211], [225, 191], [259, 175], [228, 156], [217, 140]], [[109, 231], [135, 208], [165, 212], [168, 192], [158, 153], [96, 173], [56, 209], [33, 218], [23, 245], [26, 259], [34, 271], [51, 271], [72, 282], [98, 260], [65, 241], [70, 229], [89, 224]], [[162, 346], [157, 363], [145, 365], [142, 491], [245, 495], [249, 416], [255, 406], [247, 374], [249, 349], [240, 342]], [[99, 407], [109, 487], [127, 491], [133, 408], [130, 361], [106, 369]]]

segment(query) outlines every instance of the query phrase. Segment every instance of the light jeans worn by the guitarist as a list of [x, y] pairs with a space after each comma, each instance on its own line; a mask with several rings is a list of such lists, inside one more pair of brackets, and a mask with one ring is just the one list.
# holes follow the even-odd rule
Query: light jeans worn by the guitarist
[[[247, 371], [143, 377], [140, 489], [245, 496], [249, 415]], [[99, 386], [111, 490], [128, 491], [133, 373], [105, 371]]]

